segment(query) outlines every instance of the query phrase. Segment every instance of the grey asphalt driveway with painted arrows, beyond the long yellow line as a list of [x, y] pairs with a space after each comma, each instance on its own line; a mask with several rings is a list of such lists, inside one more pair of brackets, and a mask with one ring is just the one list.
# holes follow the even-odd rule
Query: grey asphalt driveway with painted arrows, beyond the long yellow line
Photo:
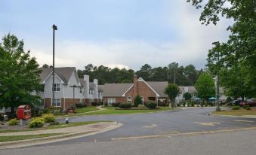
[[164, 111], [152, 114], [73, 117], [70, 121], [116, 120], [124, 125], [110, 132], [70, 139], [68, 141], [42, 144], [39, 146], [111, 141], [112, 138], [126, 138], [142, 135], [162, 135], [168, 133], [204, 132], [256, 127], [256, 119], [208, 116], [208, 113], [211, 111], [214, 111], [214, 108], [188, 108], [180, 111]]

